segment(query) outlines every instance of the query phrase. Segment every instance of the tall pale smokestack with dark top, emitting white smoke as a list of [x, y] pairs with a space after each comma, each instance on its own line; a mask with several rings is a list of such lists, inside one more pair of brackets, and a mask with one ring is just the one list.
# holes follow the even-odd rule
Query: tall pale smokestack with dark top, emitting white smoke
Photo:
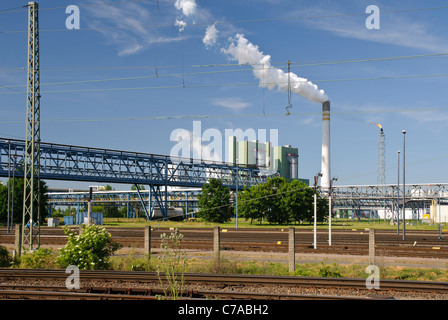
[[322, 103], [322, 165], [321, 187], [330, 188], [330, 101]]

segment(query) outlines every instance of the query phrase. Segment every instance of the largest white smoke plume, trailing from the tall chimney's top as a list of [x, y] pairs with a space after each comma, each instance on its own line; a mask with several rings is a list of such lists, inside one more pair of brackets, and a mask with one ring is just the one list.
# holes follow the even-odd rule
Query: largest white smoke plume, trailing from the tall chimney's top
[[[254, 76], [260, 80], [261, 87], [272, 90], [277, 86], [279, 91], [288, 90], [288, 73], [273, 67], [271, 56], [260, 52], [258, 46], [250, 43], [242, 34], [237, 34], [231, 41], [227, 49], [221, 49], [222, 52], [230, 55], [239, 64], [250, 64], [254, 69]], [[289, 79], [291, 92], [315, 102], [322, 103], [328, 100], [325, 92], [311, 81], [300, 78], [292, 72], [289, 74]]]

